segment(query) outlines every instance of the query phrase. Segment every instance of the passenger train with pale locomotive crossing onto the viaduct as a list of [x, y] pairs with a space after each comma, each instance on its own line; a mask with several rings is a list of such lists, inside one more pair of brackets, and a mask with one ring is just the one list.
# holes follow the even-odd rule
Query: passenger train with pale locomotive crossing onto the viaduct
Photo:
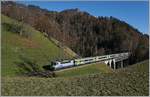
[[128, 56], [128, 53], [119, 53], [119, 54], [103, 55], [103, 56], [96, 56], [96, 57], [55, 61], [55, 62], [52, 62], [52, 66], [53, 66], [54, 70], [58, 70], [58, 69], [69, 68], [69, 67], [73, 67], [73, 66], [80, 66], [80, 65], [84, 65], [84, 64], [96, 63], [96, 62], [105, 61], [108, 59], [112, 59], [115, 57], [121, 57], [121, 56]]

